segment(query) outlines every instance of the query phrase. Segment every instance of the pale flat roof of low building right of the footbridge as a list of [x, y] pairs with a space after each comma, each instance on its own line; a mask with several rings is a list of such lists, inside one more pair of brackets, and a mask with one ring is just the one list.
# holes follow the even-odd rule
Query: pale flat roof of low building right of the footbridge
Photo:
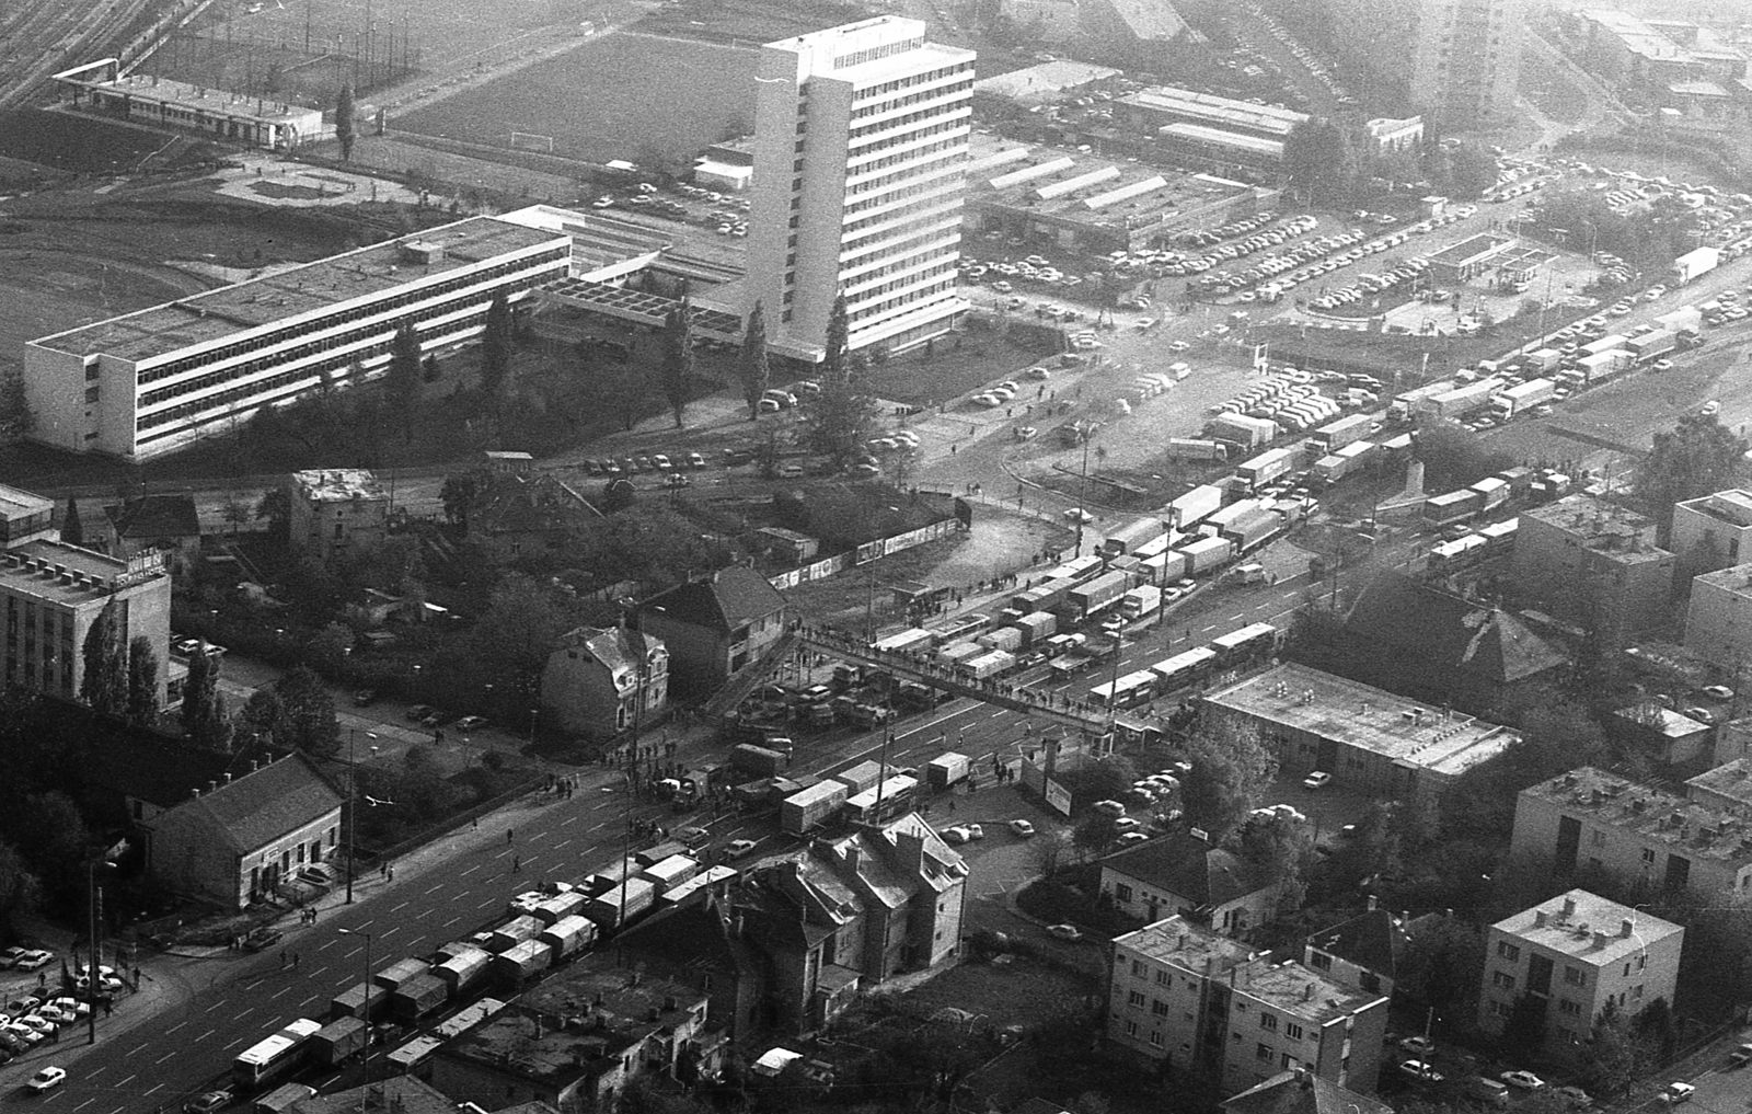
[[1384, 688], [1295, 662], [1218, 690], [1205, 701], [1445, 776], [1459, 776], [1519, 741], [1500, 723], [1452, 711], [1444, 715]]

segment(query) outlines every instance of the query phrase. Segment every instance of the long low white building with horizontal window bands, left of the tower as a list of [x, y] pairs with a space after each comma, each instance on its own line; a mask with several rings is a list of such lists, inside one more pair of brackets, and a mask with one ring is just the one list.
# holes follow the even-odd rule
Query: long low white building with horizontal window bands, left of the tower
[[519, 301], [569, 268], [566, 233], [468, 217], [44, 336], [25, 345], [33, 436], [158, 457], [261, 406], [380, 375], [406, 322], [424, 350], [468, 340], [498, 291]]

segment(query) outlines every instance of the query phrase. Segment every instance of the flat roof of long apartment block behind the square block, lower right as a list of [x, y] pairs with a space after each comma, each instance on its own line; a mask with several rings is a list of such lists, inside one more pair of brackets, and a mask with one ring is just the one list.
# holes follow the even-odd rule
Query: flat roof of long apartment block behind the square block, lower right
[[1531, 785], [1521, 795], [1684, 850], [1687, 858], [1752, 864], [1752, 821], [1593, 765]]

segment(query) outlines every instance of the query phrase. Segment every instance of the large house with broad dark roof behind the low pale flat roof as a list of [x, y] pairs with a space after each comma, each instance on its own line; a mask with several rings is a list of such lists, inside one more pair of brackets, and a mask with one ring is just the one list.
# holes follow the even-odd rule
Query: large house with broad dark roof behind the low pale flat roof
[[1482, 713], [1558, 680], [1570, 659], [1501, 608], [1382, 573], [1346, 615], [1342, 645], [1312, 664], [1430, 704]]

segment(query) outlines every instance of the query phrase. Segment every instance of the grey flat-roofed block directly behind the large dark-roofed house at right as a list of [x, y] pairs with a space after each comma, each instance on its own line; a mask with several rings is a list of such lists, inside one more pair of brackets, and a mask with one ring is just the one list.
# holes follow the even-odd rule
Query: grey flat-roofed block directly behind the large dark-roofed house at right
[[1647, 515], [1570, 496], [1521, 515], [1510, 578], [1558, 618], [1622, 646], [1664, 620], [1673, 553], [1656, 546]]

